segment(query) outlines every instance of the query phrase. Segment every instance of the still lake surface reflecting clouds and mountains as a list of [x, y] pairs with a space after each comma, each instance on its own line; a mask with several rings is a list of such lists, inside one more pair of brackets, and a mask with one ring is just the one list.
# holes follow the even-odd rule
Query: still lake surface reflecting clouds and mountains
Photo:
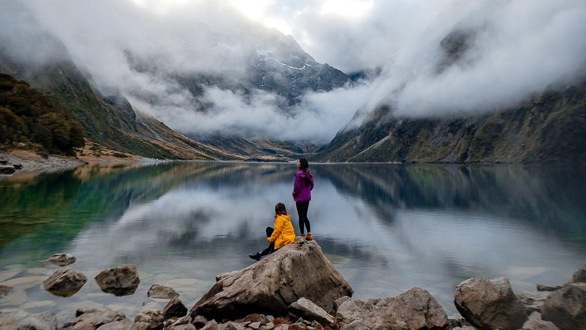
[[[431, 292], [455, 314], [455, 286], [470, 277], [510, 279], [515, 291], [562, 284], [586, 264], [586, 175], [554, 166], [312, 164], [314, 239], [357, 298]], [[222, 272], [247, 267], [267, 245], [274, 204], [291, 197], [294, 163], [165, 163], [86, 166], [0, 179], [0, 281], [18, 297], [0, 308], [80, 307], [134, 316], [154, 284], [170, 285], [188, 308]], [[40, 282], [59, 269], [57, 252], [88, 282], [55, 297]], [[100, 291], [105, 268], [137, 264], [134, 295]], [[12, 275], [12, 277], [9, 277]], [[9, 277], [9, 278], [6, 278]], [[0, 282], [2, 284], [2, 282]]]

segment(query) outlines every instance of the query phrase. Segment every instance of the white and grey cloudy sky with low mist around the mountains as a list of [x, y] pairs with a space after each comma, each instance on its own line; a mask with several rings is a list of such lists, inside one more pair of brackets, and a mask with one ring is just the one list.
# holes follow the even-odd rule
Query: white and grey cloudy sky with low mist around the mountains
[[[121, 93], [135, 110], [186, 134], [325, 144], [381, 104], [393, 116], [471, 116], [586, 76], [584, 0], [21, 1], [35, 29], [57, 36], [100, 90]], [[15, 21], [16, 2], [0, 0], [8, 8], [0, 11], [4, 47], [18, 56], [34, 53], [35, 60], [59, 56], [26, 44], [21, 32], [33, 28]], [[246, 59], [229, 46], [205, 46], [210, 36], [223, 33], [246, 45], [271, 28], [292, 35], [317, 62], [345, 73], [378, 68], [380, 76], [328, 93], [306, 91], [284, 112], [277, 95], [261, 90], [244, 97], [203, 87], [195, 99], [185, 86], [137, 72], [128, 61], [130, 51], [166, 73], [239, 79]], [[449, 59], [442, 41], [458, 33], [465, 46]]]

